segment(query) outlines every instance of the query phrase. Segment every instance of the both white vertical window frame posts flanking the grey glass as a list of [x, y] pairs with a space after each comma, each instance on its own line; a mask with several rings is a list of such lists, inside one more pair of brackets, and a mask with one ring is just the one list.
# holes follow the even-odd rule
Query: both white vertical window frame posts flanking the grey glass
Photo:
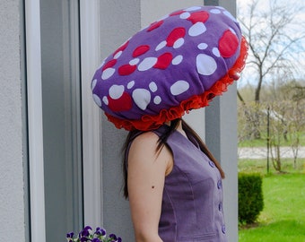
[[[92, 101], [90, 80], [100, 64], [100, 2], [79, 0], [83, 132], [84, 224], [102, 223], [100, 110]], [[24, 1], [26, 109], [29, 154], [30, 241], [46, 241], [45, 182], [41, 91], [39, 0]]]

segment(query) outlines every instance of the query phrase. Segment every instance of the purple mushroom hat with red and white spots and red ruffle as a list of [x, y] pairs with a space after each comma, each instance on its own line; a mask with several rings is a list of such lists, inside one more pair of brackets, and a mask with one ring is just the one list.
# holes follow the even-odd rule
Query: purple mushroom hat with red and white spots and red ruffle
[[221, 6], [193, 6], [139, 30], [94, 73], [92, 95], [117, 128], [153, 130], [240, 77], [248, 43]]

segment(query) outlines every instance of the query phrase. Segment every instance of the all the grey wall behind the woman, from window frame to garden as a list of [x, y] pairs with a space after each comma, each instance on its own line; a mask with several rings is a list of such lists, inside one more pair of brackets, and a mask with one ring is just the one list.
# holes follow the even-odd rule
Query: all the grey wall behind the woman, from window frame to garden
[[[222, 1], [219, 1], [222, 4]], [[224, 1], [235, 10], [235, 0]], [[171, 11], [191, 5], [204, 4], [199, 0], [127, 0], [122, 5], [119, 1], [100, 2], [100, 39], [101, 58], [109, 55], [125, 42], [137, 30], [150, 24]], [[118, 21], [119, 20], [119, 21]], [[235, 87], [236, 88], [236, 87]], [[192, 111], [187, 115], [187, 122], [196, 131], [206, 137], [206, 142], [213, 145], [215, 156], [222, 161], [228, 178], [224, 183], [226, 201], [226, 221], [229, 241], [237, 241], [237, 147], [236, 147], [236, 95], [234, 87], [221, 101], [216, 99], [209, 108]], [[229, 102], [229, 107], [226, 104]], [[231, 109], [227, 109], [231, 108]], [[210, 125], [206, 126], [206, 120]], [[228, 128], [229, 126], [229, 128]], [[126, 131], [117, 130], [105, 117], [102, 117], [102, 184], [103, 184], [103, 226], [110, 232], [118, 232], [126, 241], [135, 241], [129, 215], [128, 203], [123, 199], [121, 153], [120, 149], [126, 137]], [[208, 130], [206, 130], [208, 129]], [[209, 133], [208, 135], [206, 135]], [[215, 137], [218, 135], [218, 137]], [[233, 176], [233, 177], [231, 177]]]

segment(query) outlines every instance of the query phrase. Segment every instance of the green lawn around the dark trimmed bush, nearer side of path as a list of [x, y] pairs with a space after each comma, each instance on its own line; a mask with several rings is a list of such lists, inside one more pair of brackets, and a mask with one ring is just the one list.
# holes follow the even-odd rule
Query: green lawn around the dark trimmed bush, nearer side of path
[[265, 207], [257, 225], [239, 231], [240, 242], [305, 242], [305, 160], [292, 169], [292, 160], [283, 160], [287, 173], [266, 175], [266, 160], [240, 160], [240, 172], [263, 175]]

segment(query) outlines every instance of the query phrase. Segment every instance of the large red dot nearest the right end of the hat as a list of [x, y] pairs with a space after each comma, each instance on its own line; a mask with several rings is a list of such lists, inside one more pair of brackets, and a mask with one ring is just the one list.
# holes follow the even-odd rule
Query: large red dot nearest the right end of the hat
[[226, 30], [222, 38], [219, 39], [218, 48], [222, 57], [231, 57], [235, 54], [237, 48], [239, 47], [239, 39], [231, 30]]

